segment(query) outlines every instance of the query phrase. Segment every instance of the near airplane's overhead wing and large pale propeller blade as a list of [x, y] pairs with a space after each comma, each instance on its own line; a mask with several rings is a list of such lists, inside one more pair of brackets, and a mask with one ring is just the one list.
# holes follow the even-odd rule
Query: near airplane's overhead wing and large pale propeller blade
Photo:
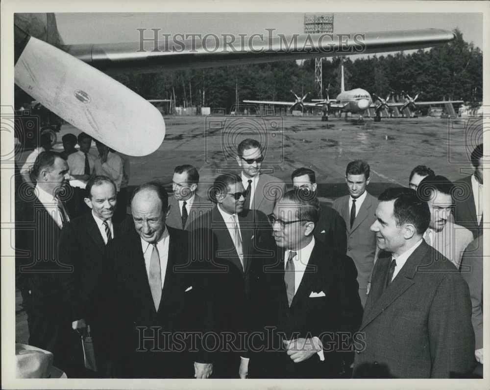
[[[238, 51], [227, 49], [227, 37], [219, 38], [218, 45], [215, 37], [210, 38], [213, 44], [208, 45], [217, 48], [213, 51], [206, 50], [207, 41], [197, 39], [183, 41], [183, 49], [172, 40], [145, 40], [143, 50], [139, 42], [67, 45], [58, 32], [53, 13], [16, 13], [14, 81], [33, 99], [81, 131], [123, 154], [146, 156], [164, 140], [163, 117], [151, 103], [105, 73], [210, 68], [329, 57], [341, 52], [359, 54], [360, 42], [362, 52], [369, 54], [432, 47], [454, 39], [452, 32], [440, 29], [366, 32], [361, 41], [358, 33], [350, 34], [352, 38], [343, 38], [342, 42], [336, 41], [336, 36], [339, 35], [300, 34], [296, 35], [295, 45], [286, 48], [284, 38], [291, 43], [292, 37], [277, 36], [267, 41], [267, 49], [264, 43], [257, 45], [249, 40]], [[304, 105], [300, 100], [295, 103]], [[365, 100], [369, 97], [360, 97], [361, 103], [357, 104], [363, 105]]]

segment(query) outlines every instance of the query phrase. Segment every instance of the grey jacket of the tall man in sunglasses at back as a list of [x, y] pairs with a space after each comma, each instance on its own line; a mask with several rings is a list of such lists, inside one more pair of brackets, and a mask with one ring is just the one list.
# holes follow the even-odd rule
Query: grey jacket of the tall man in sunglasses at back
[[250, 209], [269, 215], [276, 202], [286, 192], [286, 183], [274, 176], [260, 174]]

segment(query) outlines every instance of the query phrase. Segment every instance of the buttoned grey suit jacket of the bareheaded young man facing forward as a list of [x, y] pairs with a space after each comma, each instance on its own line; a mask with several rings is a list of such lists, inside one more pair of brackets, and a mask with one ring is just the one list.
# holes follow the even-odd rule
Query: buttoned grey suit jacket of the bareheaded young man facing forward
[[371, 275], [374, 254], [376, 251], [376, 236], [369, 228], [375, 221], [378, 200], [367, 194], [359, 212], [357, 213], [352, 229], [350, 228], [349, 195], [336, 199], [332, 208], [336, 210], [345, 221], [347, 233], [347, 256], [352, 257], [357, 267], [357, 281], [361, 301], [366, 302], [366, 289]]

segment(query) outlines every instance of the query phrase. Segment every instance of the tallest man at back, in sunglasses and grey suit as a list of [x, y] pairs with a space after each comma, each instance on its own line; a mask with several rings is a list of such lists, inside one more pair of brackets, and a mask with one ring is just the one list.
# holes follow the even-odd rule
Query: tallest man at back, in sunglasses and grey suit
[[244, 139], [238, 145], [237, 152], [237, 162], [242, 168], [240, 176], [246, 191], [244, 208], [270, 214], [276, 202], [286, 192], [286, 183], [274, 176], [260, 173], [264, 155], [260, 143], [255, 139]]

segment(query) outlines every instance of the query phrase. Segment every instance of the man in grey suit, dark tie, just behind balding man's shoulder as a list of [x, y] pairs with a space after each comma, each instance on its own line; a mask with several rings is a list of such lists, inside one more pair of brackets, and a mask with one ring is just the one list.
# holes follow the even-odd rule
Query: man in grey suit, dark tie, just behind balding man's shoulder
[[173, 170], [173, 196], [169, 198], [167, 226], [190, 231], [196, 218], [213, 208], [207, 199], [196, 194], [199, 173], [192, 165], [178, 165]]

